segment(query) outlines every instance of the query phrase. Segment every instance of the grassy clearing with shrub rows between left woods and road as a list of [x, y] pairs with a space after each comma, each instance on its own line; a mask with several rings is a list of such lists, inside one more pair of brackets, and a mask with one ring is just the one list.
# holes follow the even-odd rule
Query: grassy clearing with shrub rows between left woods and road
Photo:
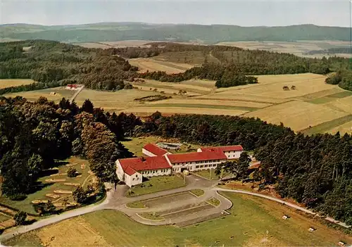
[[[51, 175], [46, 175], [38, 179], [39, 189], [32, 194], [27, 195], [23, 201], [11, 201], [9, 198], [5, 196], [0, 197], [0, 203], [4, 203], [5, 205], [9, 205], [18, 210], [23, 210], [27, 213], [36, 213], [33, 208], [32, 201], [36, 200], [51, 200], [54, 205], [57, 207], [61, 207], [61, 201], [63, 198], [68, 198], [70, 203], [73, 203], [73, 197], [70, 194], [59, 194], [54, 191], [63, 190], [63, 191], [74, 191], [76, 186], [72, 184], [80, 184], [87, 187], [88, 184], [92, 184], [94, 182], [94, 176], [89, 174], [89, 163], [87, 160], [82, 160], [80, 158], [69, 158], [68, 165], [61, 165], [58, 167], [58, 170], [52, 170]], [[81, 165], [84, 164], [84, 169]], [[80, 174], [77, 177], [67, 177], [65, 172], [68, 170], [68, 167], [75, 167], [77, 172]], [[65, 181], [55, 182], [49, 181], [48, 179], [64, 179]], [[69, 183], [71, 185], [65, 185], [65, 183]], [[48, 194], [55, 195], [58, 198], [53, 198], [51, 196], [47, 196]]]

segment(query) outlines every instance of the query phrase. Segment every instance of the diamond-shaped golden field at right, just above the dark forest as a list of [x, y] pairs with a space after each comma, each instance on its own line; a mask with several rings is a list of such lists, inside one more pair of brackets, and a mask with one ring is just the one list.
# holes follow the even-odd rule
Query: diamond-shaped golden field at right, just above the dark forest
[[289, 101], [245, 114], [246, 117], [260, 118], [277, 125], [283, 122], [294, 131], [320, 125], [345, 115], [348, 113], [303, 101]]

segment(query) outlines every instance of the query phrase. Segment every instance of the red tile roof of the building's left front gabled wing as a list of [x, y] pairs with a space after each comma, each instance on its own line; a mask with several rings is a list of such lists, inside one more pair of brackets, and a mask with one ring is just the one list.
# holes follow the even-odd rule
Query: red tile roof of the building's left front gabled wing
[[[168, 163], [168, 160], [164, 156], [153, 156], [143, 158], [122, 158], [118, 160], [122, 166], [122, 169], [128, 174], [131, 173], [132, 170], [134, 172], [139, 172], [143, 170], [158, 170], [171, 168]], [[132, 173], [133, 175], [134, 173]]]

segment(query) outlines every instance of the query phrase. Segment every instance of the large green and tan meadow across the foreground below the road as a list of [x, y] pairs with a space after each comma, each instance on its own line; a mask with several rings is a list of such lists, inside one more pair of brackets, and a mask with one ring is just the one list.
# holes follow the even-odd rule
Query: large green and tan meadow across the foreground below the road
[[[337, 246], [346, 236], [284, 205], [224, 194], [234, 204], [227, 217], [189, 227], [152, 227], [113, 210], [97, 211], [15, 236], [10, 246]], [[282, 215], [290, 216], [282, 220]], [[309, 227], [317, 230], [308, 232]], [[266, 232], [268, 231], [268, 235]]]

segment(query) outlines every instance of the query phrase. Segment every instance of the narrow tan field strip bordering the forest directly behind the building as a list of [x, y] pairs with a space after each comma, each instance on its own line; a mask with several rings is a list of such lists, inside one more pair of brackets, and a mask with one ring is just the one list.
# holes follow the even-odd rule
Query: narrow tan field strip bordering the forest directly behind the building
[[209, 115], [242, 115], [246, 110], [226, 110], [226, 109], [208, 109], [208, 108], [180, 108], [180, 107], [135, 107], [120, 110], [120, 112], [134, 113], [141, 116], [147, 116], [155, 113], [156, 111], [168, 114], [209, 114]]

